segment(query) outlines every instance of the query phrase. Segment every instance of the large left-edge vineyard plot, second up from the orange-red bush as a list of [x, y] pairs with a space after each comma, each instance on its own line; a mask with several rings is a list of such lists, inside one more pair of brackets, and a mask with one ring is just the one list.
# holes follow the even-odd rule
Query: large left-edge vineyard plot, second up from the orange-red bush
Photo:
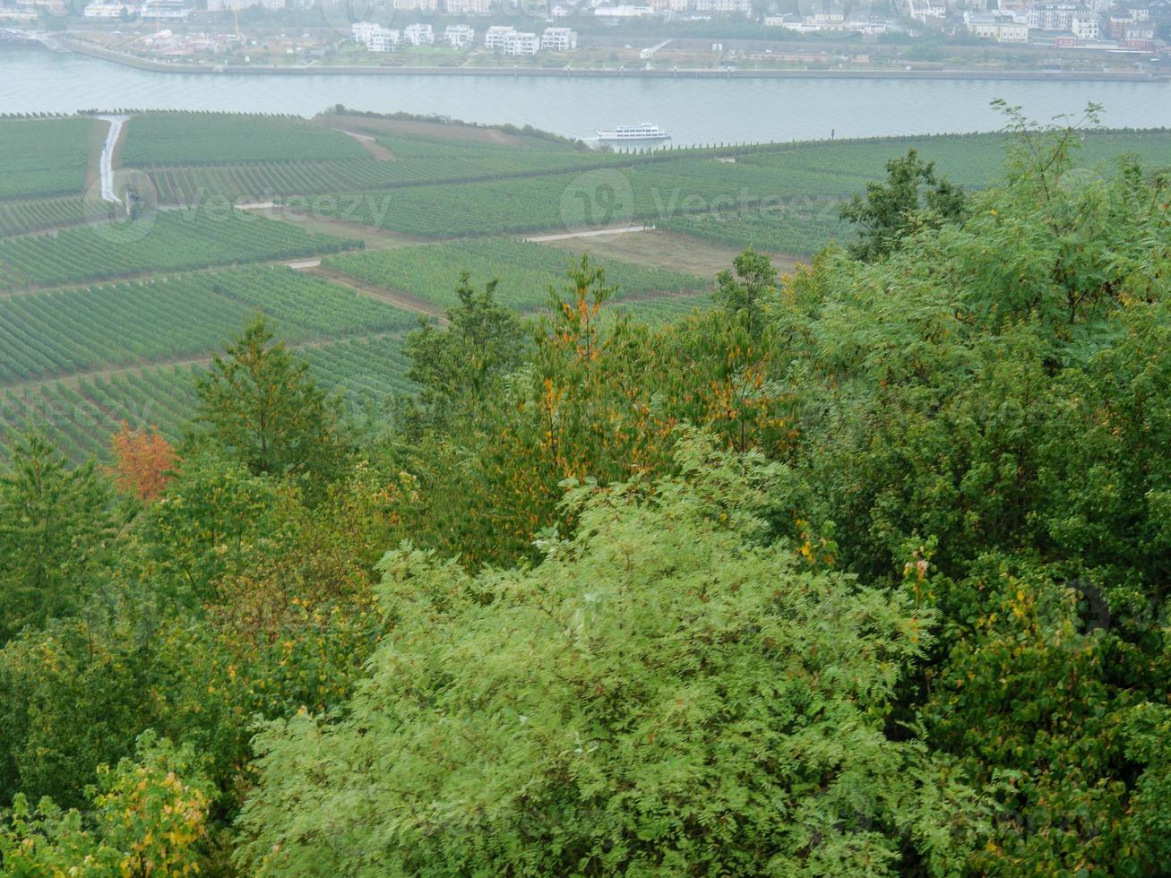
[[255, 313], [303, 342], [411, 328], [408, 311], [283, 267], [0, 299], [0, 385], [211, 354]]

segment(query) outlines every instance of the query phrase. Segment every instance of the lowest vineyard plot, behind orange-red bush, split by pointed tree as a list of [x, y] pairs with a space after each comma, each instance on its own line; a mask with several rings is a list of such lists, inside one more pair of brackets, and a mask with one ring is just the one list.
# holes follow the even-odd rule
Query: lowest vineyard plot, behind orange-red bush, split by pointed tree
[[[399, 336], [333, 342], [300, 351], [314, 377], [341, 393], [355, 414], [392, 393], [410, 392]], [[0, 458], [22, 433], [43, 430], [74, 461], [108, 459], [125, 421], [177, 439], [196, 405], [200, 366], [150, 366], [0, 391]]]

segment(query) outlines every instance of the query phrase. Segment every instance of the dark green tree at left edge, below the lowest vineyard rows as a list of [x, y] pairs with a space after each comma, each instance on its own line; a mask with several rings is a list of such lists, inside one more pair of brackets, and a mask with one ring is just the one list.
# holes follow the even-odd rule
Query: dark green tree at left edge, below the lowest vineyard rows
[[0, 644], [77, 610], [114, 536], [109, 487], [93, 462], [69, 469], [37, 435], [0, 475]]

